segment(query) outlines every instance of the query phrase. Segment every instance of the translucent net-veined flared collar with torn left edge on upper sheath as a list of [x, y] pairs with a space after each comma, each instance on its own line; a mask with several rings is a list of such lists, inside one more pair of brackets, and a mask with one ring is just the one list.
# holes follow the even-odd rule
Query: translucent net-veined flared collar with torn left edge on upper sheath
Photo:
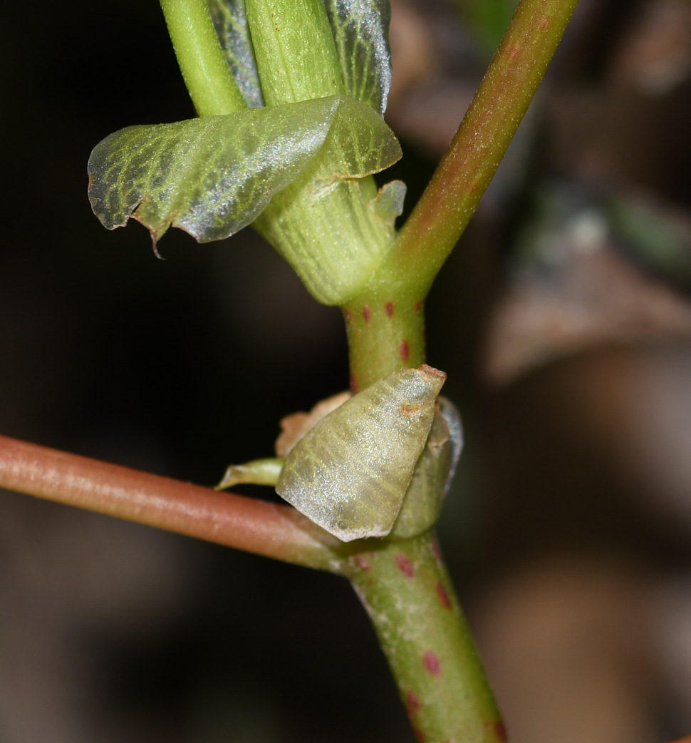
[[91, 153], [91, 207], [109, 230], [134, 217], [154, 241], [171, 224], [199, 242], [224, 239], [254, 221], [312, 160], [338, 162], [333, 172], [317, 169], [322, 181], [361, 178], [398, 160], [396, 137], [372, 114], [332, 96], [121, 129]]

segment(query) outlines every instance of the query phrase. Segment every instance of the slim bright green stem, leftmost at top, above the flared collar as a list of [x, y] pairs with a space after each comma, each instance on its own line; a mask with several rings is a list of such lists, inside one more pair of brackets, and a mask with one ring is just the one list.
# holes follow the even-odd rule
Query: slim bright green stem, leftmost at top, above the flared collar
[[177, 63], [197, 114], [232, 114], [246, 108], [220, 48], [206, 0], [160, 2]]

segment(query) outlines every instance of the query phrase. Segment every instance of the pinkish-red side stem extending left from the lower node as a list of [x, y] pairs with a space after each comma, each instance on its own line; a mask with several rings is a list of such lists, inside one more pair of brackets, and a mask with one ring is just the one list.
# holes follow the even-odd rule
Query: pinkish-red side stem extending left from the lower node
[[340, 571], [338, 539], [294, 508], [0, 436], [0, 487], [209, 542]]

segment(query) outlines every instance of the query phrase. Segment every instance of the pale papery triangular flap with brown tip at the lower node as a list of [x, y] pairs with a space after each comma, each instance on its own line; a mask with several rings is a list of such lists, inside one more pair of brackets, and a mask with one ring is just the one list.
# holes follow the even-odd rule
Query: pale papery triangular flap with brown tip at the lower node
[[286, 458], [276, 492], [344, 542], [386, 536], [425, 448], [446, 379], [401, 369], [327, 415]]

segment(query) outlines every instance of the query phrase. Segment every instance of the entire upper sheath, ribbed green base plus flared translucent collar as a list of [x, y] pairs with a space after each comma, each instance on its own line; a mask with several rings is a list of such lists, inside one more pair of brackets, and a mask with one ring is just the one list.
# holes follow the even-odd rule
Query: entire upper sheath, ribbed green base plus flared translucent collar
[[332, 96], [122, 129], [91, 153], [89, 198], [109, 230], [134, 217], [154, 241], [171, 224], [221, 240], [266, 210], [258, 229], [317, 299], [338, 304], [393, 237], [369, 207], [371, 179], [357, 179], [400, 157], [376, 111]]

